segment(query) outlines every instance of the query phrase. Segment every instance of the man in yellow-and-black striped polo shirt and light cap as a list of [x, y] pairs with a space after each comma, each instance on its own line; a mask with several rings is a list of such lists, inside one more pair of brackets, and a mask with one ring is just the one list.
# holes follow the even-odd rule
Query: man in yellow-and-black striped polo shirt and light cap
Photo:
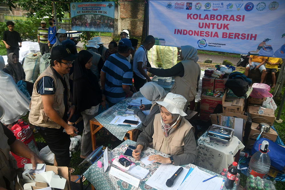
[[46, 28], [46, 21], [40, 21], [40, 26], [38, 28], [38, 44], [40, 45], [40, 53], [46, 54], [50, 52], [48, 47], [48, 28]]

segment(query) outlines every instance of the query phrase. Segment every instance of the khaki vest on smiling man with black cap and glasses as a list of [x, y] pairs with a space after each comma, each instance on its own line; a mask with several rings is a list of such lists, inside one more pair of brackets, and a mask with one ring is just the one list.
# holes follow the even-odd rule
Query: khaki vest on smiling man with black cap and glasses
[[[64, 93], [64, 87], [63, 84], [60, 80], [60, 78], [57, 77], [56, 73], [51, 68], [52, 66], [49, 66], [36, 80], [34, 83], [34, 89], [32, 93], [32, 100], [30, 102], [30, 114], [29, 114], [29, 121], [31, 124], [40, 126], [40, 127], [48, 127], [48, 128], [60, 128], [60, 125], [53, 122], [48, 115], [44, 112], [44, 107], [42, 104], [42, 97], [41, 95], [37, 92], [37, 84], [38, 81], [44, 77], [44, 76], [49, 76], [52, 77], [54, 80], [54, 85], [55, 85], [55, 94], [54, 94], [54, 104], [53, 108], [58, 112], [60, 117], [62, 118], [64, 115], [65, 107], [64, 107], [64, 100], [63, 100], [63, 93]], [[69, 100], [69, 74], [64, 75], [64, 79], [66, 81], [66, 86], [67, 86], [67, 100]]]

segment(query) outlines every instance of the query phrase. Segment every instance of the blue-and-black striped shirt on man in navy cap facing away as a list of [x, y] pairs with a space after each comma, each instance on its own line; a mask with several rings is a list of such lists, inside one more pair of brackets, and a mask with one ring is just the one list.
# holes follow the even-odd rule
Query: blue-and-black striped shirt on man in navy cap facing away
[[119, 53], [111, 54], [102, 71], [106, 73], [105, 96], [113, 104], [125, 99], [122, 85], [132, 85], [133, 69], [128, 60]]

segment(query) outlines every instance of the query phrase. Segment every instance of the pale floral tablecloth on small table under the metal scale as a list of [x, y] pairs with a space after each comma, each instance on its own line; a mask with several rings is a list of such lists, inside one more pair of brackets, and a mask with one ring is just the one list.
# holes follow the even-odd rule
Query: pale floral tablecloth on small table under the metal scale
[[[223, 168], [227, 168], [233, 163], [233, 156], [239, 150], [243, 150], [245, 146], [236, 136], [229, 143], [221, 143], [209, 138], [206, 133], [198, 139], [195, 164], [210, 171], [221, 173]], [[209, 141], [206, 138], [209, 138]]]

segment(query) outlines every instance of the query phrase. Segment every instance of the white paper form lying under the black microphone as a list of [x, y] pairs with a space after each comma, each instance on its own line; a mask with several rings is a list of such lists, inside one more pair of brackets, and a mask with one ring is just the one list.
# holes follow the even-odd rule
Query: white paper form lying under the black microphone
[[173, 164], [161, 164], [145, 183], [150, 187], [153, 187], [158, 190], [177, 190], [179, 185], [182, 183], [184, 177], [188, 173], [189, 169], [183, 168], [181, 173], [174, 180], [174, 184], [171, 187], [166, 186], [166, 181], [180, 167], [181, 166], [174, 166]]

